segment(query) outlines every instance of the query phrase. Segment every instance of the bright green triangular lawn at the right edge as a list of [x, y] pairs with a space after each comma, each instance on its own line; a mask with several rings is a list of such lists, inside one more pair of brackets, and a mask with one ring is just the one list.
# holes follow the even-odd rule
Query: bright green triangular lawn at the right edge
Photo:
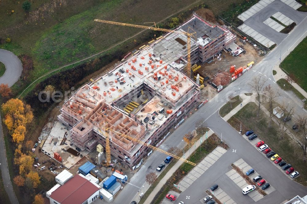
[[279, 67], [286, 70], [289, 74], [294, 74], [298, 79], [297, 84], [305, 91], [307, 91], [306, 47], [307, 37], [279, 65]]

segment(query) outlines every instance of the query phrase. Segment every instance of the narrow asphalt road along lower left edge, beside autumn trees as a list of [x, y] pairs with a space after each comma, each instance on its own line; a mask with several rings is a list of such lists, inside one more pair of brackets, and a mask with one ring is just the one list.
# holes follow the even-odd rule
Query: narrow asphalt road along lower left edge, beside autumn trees
[[[1, 116], [0, 116], [0, 121], [1, 121]], [[7, 166], [6, 151], [5, 151], [5, 146], [4, 146], [1, 122], [0, 122], [0, 155], [2, 155], [2, 157], [0, 157], [0, 168], [1, 168], [1, 174], [2, 174], [3, 185], [5, 188], [5, 191], [10, 198], [11, 204], [18, 204], [18, 200], [15, 196], [13, 186], [11, 183], [9, 168]]]

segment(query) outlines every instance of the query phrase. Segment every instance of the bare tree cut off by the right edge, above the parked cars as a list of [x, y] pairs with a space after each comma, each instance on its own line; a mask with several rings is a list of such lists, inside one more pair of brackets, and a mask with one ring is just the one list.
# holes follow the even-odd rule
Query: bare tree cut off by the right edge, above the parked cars
[[306, 150], [307, 150], [307, 115], [299, 115], [296, 122], [300, 128], [300, 134], [297, 134], [293, 139], [301, 147], [304, 153], [304, 161], [306, 161]]

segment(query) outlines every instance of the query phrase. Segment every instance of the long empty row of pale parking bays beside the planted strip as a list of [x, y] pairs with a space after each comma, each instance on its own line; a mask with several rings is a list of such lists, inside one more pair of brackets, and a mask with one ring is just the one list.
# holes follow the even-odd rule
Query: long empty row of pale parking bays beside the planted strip
[[188, 173], [178, 184], [181, 191], [185, 191], [192, 183], [198, 179], [212, 164], [214, 164], [223, 154], [227, 152], [226, 149], [218, 146], [211, 153], [197, 164], [192, 171]]

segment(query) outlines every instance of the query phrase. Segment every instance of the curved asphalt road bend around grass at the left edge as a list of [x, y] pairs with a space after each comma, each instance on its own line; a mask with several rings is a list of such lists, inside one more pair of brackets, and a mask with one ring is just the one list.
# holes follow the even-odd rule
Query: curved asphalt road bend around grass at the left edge
[[5, 74], [0, 77], [0, 84], [8, 84], [11, 87], [21, 75], [22, 64], [16, 55], [2, 49], [0, 49], [0, 62], [6, 66]]

